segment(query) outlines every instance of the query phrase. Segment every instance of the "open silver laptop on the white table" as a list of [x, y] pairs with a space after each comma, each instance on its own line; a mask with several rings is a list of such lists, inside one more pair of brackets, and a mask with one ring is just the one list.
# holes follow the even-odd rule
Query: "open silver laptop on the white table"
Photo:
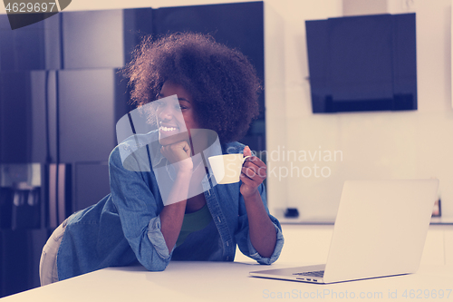
[[250, 275], [327, 284], [415, 273], [438, 187], [435, 179], [345, 181], [326, 264]]

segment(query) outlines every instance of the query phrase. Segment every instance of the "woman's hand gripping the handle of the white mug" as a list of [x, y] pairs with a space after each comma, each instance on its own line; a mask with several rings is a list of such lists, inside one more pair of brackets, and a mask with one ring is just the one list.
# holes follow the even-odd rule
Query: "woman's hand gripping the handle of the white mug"
[[242, 180], [240, 191], [246, 198], [257, 192], [258, 186], [265, 180], [267, 167], [259, 158], [252, 156], [252, 151], [248, 146], [244, 149], [244, 156], [250, 156], [244, 162], [240, 176]]

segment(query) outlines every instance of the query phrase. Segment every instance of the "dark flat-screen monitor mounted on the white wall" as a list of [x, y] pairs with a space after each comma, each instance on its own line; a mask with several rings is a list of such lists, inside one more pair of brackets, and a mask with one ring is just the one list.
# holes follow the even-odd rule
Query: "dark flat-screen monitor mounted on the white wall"
[[417, 110], [415, 14], [306, 21], [313, 113]]

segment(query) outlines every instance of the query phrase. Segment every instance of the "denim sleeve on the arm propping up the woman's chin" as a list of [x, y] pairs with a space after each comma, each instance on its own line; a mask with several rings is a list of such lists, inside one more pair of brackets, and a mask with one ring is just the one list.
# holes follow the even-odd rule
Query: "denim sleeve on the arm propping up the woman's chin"
[[[143, 149], [141, 151], [146, 152]], [[137, 158], [148, 157], [144, 155]], [[120, 215], [121, 228], [130, 248], [145, 268], [164, 270], [169, 265], [171, 252], [160, 231], [159, 212], [163, 205], [159, 205], [157, 182], [149, 179], [152, 172], [124, 169], [118, 147], [111, 152], [109, 170], [111, 198]]]

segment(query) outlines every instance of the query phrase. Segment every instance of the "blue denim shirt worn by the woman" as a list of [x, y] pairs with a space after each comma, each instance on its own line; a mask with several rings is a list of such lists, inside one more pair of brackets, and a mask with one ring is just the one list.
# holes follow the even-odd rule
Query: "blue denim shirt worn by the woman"
[[[151, 271], [161, 271], [169, 265], [175, 248], [169, 251], [160, 231], [159, 213], [164, 204], [155, 173], [152, 168], [143, 171], [124, 169], [121, 145], [123, 143], [111, 151], [109, 158], [111, 193], [68, 219], [57, 254], [60, 280], [96, 269], [130, 265], [137, 260]], [[244, 147], [239, 142], [230, 142], [222, 145], [222, 152], [240, 153]], [[148, 150], [148, 147], [141, 148], [143, 152]], [[155, 156], [163, 158], [160, 153]], [[246, 205], [239, 191], [241, 182], [211, 187], [205, 178], [202, 185], [218, 231], [215, 235], [217, 240], [220, 238], [217, 260], [233, 261], [237, 244], [242, 253], [260, 264], [275, 262], [283, 248], [284, 238], [280, 223], [269, 215], [264, 185], [261, 184], [258, 190], [276, 231], [275, 250], [270, 258], [261, 257], [250, 241]], [[206, 240], [214, 239], [208, 236]], [[203, 253], [203, 250], [197, 252]], [[198, 258], [203, 258], [203, 255]], [[194, 257], [188, 255], [187, 259]]]

